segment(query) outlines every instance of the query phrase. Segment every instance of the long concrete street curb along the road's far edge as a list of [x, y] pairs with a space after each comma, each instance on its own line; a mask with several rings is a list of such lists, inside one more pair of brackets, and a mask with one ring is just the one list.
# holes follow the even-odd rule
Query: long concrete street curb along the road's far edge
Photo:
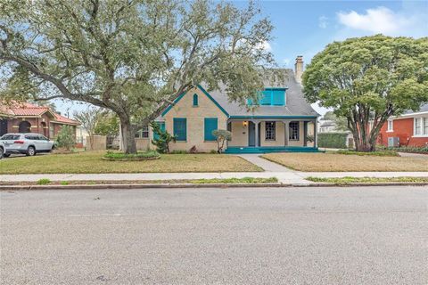
[[73, 184], [73, 185], [0, 185], [0, 191], [103, 190], [103, 189], [183, 189], [183, 188], [263, 188], [263, 187], [355, 187], [355, 186], [426, 186], [428, 183], [152, 183], [152, 184]]

